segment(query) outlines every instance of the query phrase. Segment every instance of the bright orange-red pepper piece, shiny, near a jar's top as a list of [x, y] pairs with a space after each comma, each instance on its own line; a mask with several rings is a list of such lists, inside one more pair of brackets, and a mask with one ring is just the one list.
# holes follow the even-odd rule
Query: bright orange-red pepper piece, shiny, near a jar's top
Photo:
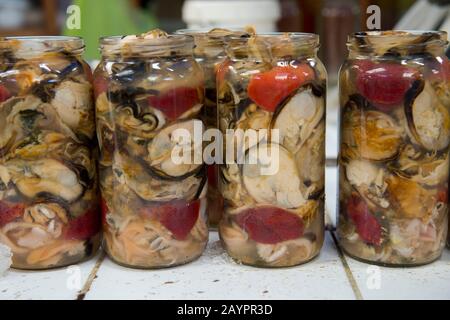
[[309, 65], [278, 66], [256, 74], [248, 85], [248, 96], [258, 106], [274, 112], [277, 106], [305, 82], [314, 79]]

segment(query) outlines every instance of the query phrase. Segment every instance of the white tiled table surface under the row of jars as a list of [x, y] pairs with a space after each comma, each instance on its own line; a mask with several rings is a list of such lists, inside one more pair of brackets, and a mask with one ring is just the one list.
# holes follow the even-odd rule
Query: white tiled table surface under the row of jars
[[[327, 168], [330, 226], [336, 220], [336, 171]], [[320, 256], [298, 267], [239, 265], [211, 232], [200, 259], [172, 269], [127, 269], [100, 252], [68, 268], [10, 270], [0, 278], [0, 299], [450, 299], [450, 251], [428, 266], [376, 267], [342, 256], [329, 229]]]

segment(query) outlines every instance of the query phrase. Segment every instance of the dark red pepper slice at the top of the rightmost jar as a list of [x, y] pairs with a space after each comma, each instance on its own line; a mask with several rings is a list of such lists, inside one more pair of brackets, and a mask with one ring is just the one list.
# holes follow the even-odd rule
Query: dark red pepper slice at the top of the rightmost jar
[[417, 70], [399, 64], [362, 60], [355, 65], [358, 91], [384, 112], [402, 104], [406, 92], [419, 77]]

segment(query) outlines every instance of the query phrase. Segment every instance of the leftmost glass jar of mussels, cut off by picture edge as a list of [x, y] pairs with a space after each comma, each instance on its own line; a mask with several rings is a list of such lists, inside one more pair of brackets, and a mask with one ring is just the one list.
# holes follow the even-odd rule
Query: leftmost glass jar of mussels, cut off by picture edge
[[0, 39], [0, 241], [48, 269], [100, 244], [92, 74], [75, 37]]

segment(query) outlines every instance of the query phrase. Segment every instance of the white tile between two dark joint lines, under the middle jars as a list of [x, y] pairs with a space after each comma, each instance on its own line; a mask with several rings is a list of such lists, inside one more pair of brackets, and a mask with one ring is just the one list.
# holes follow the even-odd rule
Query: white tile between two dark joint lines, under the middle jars
[[134, 270], [106, 259], [86, 299], [354, 299], [327, 233], [321, 255], [293, 268], [259, 269], [232, 261], [217, 233], [205, 254], [172, 269]]

